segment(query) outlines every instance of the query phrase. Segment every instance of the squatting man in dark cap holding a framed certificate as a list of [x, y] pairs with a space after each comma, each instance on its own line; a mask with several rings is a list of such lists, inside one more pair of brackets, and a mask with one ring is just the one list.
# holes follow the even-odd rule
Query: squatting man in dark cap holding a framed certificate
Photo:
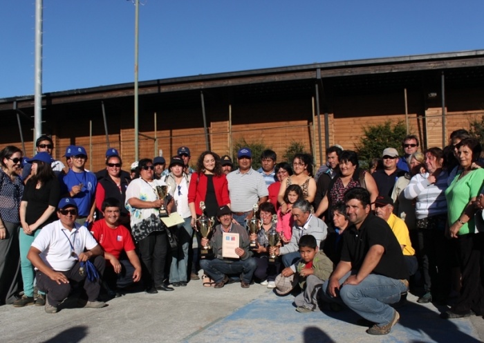
[[[249, 250], [249, 234], [241, 225], [232, 223], [232, 211], [227, 205], [219, 207], [217, 218], [221, 224], [216, 225], [210, 245], [214, 252], [214, 259], [202, 259], [200, 267], [205, 270], [210, 279], [215, 281], [214, 288], [222, 288], [229, 278], [227, 275], [240, 275], [241, 287], [249, 288], [252, 275], [257, 268], [257, 263], [252, 258], [252, 252]], [[238, 234], [239, 246], [234, 251], [223, 251], [223, 240], [232, 241], [231, 236], [225, 234]], [[208, 239], [201, 239], [202, 246], [207, 246]], [[233, 257], [226, 257], [233, 256]]]

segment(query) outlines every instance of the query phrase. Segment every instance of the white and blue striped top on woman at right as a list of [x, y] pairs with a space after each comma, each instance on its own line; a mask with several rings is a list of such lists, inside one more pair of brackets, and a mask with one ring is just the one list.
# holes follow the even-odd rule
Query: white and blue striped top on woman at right
[[417, 174], [413, 176], [410, 183], [403, 190], [406, 199], [416, 198], [415, 213], [417, 219], [424, 219], [429, 216], [447, 213], [447, 199], [445, 189], [447, 189], [446, 171], [440, 172], [436, 183], [429, 183], [427, 178], [429, 173]]

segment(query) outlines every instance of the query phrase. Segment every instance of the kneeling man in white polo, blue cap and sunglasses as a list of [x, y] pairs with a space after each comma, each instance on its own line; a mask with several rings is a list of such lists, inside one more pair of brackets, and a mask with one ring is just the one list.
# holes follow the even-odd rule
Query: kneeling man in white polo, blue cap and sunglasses
[[[102, 248], [86, 227], [75, 223], [77, 205], [72, 198], [61, 199], [57, 216], [59, 220], [44, 226], [27, 254], [37, 268], [37, 287], [47, 293], [46, 313], [56, 313], [59, 304], [68, 297], [71, 292], [69, 281], [84, 281], [87, 302], [82, 302], [83, 307], [106, 306], [104, 302], [97, 301], [99, 275], [102, 275], [105, 266]], [[91, 268], [81, 266], [81, 262], [87, 261], [93, 263], [99, 273], [97, 277], [92, 277]], [[95, 273], [95, 270], [92, 271]]]

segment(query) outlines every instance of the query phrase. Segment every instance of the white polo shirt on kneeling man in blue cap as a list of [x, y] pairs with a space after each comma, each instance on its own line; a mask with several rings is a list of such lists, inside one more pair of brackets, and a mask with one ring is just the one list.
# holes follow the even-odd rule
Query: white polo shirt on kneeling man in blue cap
[[32, 247], [41, 251], [40, 257], [44, 263], [59, 272], [71, 270], [79, 254], [84, 249], [95, 248], [96, 245], [97, 242], [85, 226], [75, 223], [75, 228], [69, 231], [61, 221], [44, 226], [32, 243]]

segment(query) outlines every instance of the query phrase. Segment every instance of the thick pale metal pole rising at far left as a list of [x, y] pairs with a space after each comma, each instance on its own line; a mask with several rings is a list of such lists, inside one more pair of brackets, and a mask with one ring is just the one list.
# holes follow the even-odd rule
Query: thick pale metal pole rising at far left
[[35, 0], [34, 141], [42, 135], [42, 0]]

